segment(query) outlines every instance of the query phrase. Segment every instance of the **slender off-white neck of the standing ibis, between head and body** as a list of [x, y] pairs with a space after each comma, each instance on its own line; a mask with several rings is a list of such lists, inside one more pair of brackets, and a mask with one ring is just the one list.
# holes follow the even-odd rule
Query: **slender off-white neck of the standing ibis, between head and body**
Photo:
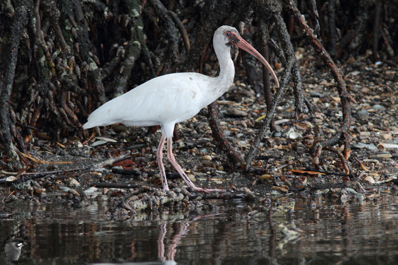
[[208, 93], [212, 94], [214, 100], [216, 100], [232, 85], [233, 77], [235, 75], [235, 66], [231, 59], [229, 47], [224, 46], [221, 49], [214, 47], [214, 51], [220, 65], [220, 74], [213, 78], [212, 85], [208, 87]]

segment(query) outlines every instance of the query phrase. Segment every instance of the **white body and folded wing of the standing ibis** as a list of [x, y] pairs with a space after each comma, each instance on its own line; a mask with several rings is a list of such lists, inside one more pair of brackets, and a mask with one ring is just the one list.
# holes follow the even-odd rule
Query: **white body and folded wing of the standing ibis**
[[208, 78], [199, 73], [173, 73], [153, 78], [100, 106], [83, 128], [114, 123], [152, 126], [185, 121], [204, 107], [202, 88]]

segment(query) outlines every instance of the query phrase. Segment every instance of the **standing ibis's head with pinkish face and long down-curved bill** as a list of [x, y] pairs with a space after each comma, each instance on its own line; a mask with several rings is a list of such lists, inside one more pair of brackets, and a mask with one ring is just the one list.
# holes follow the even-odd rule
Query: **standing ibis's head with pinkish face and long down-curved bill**
[[279, 87], [279, 81], [278, 78], [272, 69], [272, 67], [268, 64], [267, 60], [264, 59], [264, 57], [257, 52], [256, 49], [254, 49], [247, 41], [245, 41], [240, 35], [239, 32], [236, 28], [231, 27], [231, 26], [221, 26], [219, 27], [215, 32], [214, 32], [214, 37], [213, 37], [213, 45], [214, 47], [216, 45], [226, 45], [226, 46], [236, 46], [249, 54], [253, 55], [256, 57], [264, 66], [268, 68], [268, 70], [271, 72], [272, 76], [274, 77], [276, 85]]

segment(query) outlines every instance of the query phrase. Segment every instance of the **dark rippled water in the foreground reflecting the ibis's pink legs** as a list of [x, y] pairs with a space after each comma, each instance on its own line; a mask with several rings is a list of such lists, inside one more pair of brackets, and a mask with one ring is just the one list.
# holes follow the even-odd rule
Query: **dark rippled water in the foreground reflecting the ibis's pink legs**
[[[24, 230], [30, 253], [22, 248], [20, 264], [26, 265], [398, 264], [397, 196], [346, 204], [320, 197], [272, 201], [294, 201], [293, 213], [282, 221], [267, 213], [254, 217], [247, 205], [261, 202], [233, 200], [211, 201], [216, 206], [206, 212], [141, 213], [115, 221], [99, 202], [75, 209], [7, 204], [0, 239], [3, 244]], [[282, 236], [281, 222], [296, 226], [296, 236]], [[6, 264], [4, 247], [0, 252], [0, 264]]]

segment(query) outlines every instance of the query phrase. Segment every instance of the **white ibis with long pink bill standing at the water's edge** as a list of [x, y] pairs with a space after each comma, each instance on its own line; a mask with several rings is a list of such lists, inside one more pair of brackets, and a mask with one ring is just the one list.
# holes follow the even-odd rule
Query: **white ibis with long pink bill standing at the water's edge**
[[235, 68], [230, 55], [231, 46], [241, 48], [260, 60], [270, 70], [278, 87], [279, 82], [264, 57], [248, 44], [234, 27], [219, 27], [213, 36], [213, 46], [220, 65], [220, 74], [217, 77], [196, 72], [170, 73], [155, 77], [100, 106], [90, 114], [83, 129], [114, 123], [126, 126], [160, 125], [162, 137], [156, 151], [156, 160], [163, 190], [169, 190], [162, 161], [163, 145], [167, 138], [167, 158], [189, 187], [200, 192], [224, 191], [198, 188], [187, 177], [173, 155], [174, 125], [194, 117], [232, 85]]

